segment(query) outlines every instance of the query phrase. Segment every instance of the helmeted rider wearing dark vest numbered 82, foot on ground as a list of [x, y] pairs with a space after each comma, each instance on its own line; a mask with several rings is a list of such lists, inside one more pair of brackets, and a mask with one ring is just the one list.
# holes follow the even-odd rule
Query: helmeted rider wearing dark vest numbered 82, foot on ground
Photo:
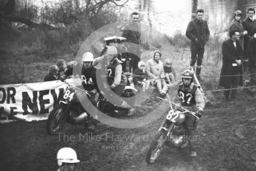
[[192, 70], [187, 69], [182, 73], [182, 83], [178, 86], [178, 99], [181, 107], [195, 112], [195, 116], [186, 113], [184, 121], [184, 126], [188, 133], [189, 156], [195, 157], [197, 156], [197, 153], [192, 147], [192, 142], [195, 141], [197, 119], [203, 115], [205, 101], [198, 86], [195, 83], [192, 83], [193, 77], [194, 72]]

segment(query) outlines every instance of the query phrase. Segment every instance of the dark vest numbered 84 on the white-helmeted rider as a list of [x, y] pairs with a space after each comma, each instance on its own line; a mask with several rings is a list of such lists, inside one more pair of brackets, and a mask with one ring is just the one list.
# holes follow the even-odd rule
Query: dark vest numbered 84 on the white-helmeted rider
[[97, 69], [95, 67], [91, 67], [89, 69], [85, 69], [84, 67], [82, 68], [82, 73], [80, 77], [83, 80], [83, 88], [86, 91], [96, 90], [97, 92], [99, 92], [96, 80], [96, 70]]

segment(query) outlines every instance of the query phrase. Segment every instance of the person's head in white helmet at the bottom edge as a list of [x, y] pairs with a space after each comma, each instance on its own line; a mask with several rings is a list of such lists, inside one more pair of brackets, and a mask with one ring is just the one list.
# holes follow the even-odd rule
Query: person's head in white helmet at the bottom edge
[[75, 164], [79, 163], [77, 153], [72, 148], [61, 148], [57, 153], [58, 171], [74, 171]]

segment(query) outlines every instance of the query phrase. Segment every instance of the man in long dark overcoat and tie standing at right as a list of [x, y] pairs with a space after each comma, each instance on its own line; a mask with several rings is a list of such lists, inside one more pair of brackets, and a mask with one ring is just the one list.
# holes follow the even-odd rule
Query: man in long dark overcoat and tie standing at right
[[[242, 64], [241, 55], [243, 53], [240, 45], [239, 31], [229, 31], [230, 39], [222, 44], [222, 71], [220, 73], [219, 86], [225, 89], [237, 88], [238, 85], [242, 86]], [[236, 99], [236, 89], [225, 90], [225, 99]]]

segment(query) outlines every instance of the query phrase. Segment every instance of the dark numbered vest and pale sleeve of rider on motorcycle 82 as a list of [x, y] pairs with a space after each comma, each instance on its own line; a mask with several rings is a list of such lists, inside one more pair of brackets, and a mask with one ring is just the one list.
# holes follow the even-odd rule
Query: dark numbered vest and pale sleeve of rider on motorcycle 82
[[198, 110], [203, 110], [205, 107], [203, 94], [194, 83], [191, 83], [189, 87], [181, 83], [178, 86], [178, 96], [181, 99], [182, 106], [196, 106]]

